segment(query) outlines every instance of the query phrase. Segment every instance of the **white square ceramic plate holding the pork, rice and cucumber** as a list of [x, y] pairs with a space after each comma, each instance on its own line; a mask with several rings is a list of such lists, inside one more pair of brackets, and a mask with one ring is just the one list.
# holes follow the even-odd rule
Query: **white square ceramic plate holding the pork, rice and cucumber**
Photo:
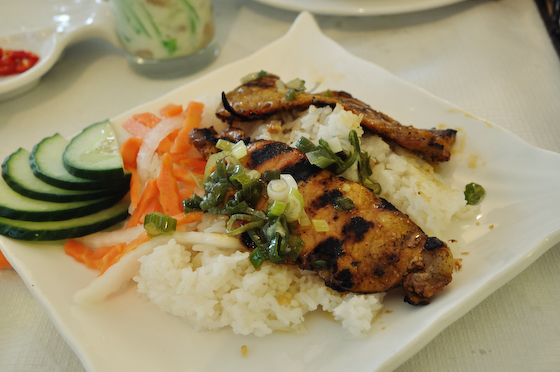
[[[286, 53], [292, 56], [290, 64], [283, 62]], [[428, 306], [413, 307], [400, 294], [389, 294], [385, 306], [392, 312], [384, 313], [359, 339], [320, 315], [308, 318], [307, 335], [257, 338], [236, 336], [228, 329], [196, 332], [142, 300], [132, 284], [104, 303], [78, 306], [72, 301], [74, 293], [96, 272], [65, 256], [59, 243], [0, 237], [4, 254], [88, 371], [251, 372], [266, 366], [270, 371], [327, 372], [349, 365], [353, 371], [391, 371], [560, 241], [560, 155], [535, 148], [350, 55], [321, 33], [307, 12], [284, 37], [259, 52], [113, 122], [118, 125], [133, 112], [156, 112], [169, 102], [228, 91], [240, 77], [262, 69], [284, 80], [300, 77], [321, 81], [324, 88], [344, 89], [403, 124], [430, 128], [444, 123], [459, 129], [459, 149], [444, 171], [457, 185], [474, 181], [487, 190], [478, 225], [456, 223], [447, 233], [459, 241], [461, 251], [470, 252], [462, 257], [463, 269]], [[473, 157], [478, 159], [475, 168], [469, 167]], [[249, 349], [246, 358], [242, 345]]]

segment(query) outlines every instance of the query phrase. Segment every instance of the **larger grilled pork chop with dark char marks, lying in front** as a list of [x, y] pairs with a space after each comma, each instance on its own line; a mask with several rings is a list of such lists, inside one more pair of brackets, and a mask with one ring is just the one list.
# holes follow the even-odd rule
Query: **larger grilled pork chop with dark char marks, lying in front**
[[[195, 129], [191, 142], [201, 153], [208, 153], [217, 141], [212, 140], [213, 133]], [[327, 286], [356, 293], [402, 286], [405, 301], [418, 305], [451, 282], [453, 256], [446, 244], [428, 237], [407, 215], [371, 190], [315, 167], [305, 154], [282, 142], [256, 141], [247, 149], [248, 156], [242, 160], [247, 169], [261, 173], [279, 169], [291, 174], [309, 218], [328, 222], [328, 232], [294, 223], [294, 234], [305, 243], [295, 263], [314, 270], [313, 262], [326, 261], [326, 269], [315, 271]], [[341, 196], [350, 198], [355, 208], [335, 209], [334, 200]], [[267, 204], [263, 196], [257, 209], [266, 210]]]

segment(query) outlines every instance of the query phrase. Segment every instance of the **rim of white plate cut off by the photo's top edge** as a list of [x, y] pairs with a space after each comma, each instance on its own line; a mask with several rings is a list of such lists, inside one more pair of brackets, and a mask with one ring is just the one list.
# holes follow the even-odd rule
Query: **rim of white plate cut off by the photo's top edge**
[[338, 16], [410, 13], [464, 0], [255, 0], [276, 8]]

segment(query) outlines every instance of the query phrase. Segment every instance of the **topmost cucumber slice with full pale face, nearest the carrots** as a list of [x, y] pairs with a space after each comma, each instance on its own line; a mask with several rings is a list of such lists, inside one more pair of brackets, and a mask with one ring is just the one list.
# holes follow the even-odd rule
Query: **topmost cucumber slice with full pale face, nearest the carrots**
[[74, 137], [62, 160], [76, 177], [99, 180], [124, 175], [119, 144], [109, 120], [92, 124]]

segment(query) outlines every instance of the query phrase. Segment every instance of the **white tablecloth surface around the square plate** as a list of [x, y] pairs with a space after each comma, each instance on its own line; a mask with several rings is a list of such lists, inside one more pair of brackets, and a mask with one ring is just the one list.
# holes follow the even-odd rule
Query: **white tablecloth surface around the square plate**
[[[215, 0], [214, 12], [221, 54], [187, 77], [137, 75], [121, 50], [102, 40], [69, 47], [38, 87], [0, 102], [1, 157], [22, 139], [37, 142], [53, 127], [70, 136], [239, 60], [284, 35], [297, 16], [248, 0]], [[0, 35], [17, 31], [10, 19], [0, 22]], [[560, 60], [532, 1], [467, 0], [417, 13], [316, 19], [350, 53], [560, 152]], [[559, 267], [557, 244], [397, 371], [560, 371]], [[0, 369], [83, 370], [11, 269], [0, 270]]]

